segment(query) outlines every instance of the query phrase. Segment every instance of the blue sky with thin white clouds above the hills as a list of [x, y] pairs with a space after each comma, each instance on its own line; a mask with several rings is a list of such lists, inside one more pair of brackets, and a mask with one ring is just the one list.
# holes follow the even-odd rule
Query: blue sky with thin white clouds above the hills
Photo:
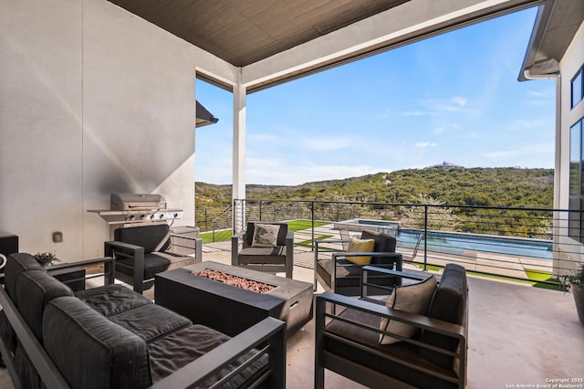
[[[552, 168], [555, 81], [518, 82], [536, 9], [247, 96], [246, 182], [303, 184], [422, 168]], [[195, 180], [232, 182], [233, 96], [196, 130]]]

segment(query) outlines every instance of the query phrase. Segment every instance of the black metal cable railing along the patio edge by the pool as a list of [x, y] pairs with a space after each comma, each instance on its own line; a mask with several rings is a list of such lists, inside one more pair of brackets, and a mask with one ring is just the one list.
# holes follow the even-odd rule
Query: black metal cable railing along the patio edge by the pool
[[[395, 234], [407, 257], [423, 234], [413, 264], [446, 263], [489, 277], [558, 285], [582, 261], [568, 233], [568, 210], [466, 205], [384, 204], [303, 200], [235, 200], [235, 230], [246, 221], [288, 221], [298, 250], [339, 237], [339, 229]], [[573, 218], [573, 216], [572, 216]]]

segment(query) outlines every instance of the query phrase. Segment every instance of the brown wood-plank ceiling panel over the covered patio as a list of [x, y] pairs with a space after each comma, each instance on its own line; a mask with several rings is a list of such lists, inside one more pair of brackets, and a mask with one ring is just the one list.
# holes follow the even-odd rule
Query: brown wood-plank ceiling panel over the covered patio
[[110, 0], [236, 67], [410, 0]]

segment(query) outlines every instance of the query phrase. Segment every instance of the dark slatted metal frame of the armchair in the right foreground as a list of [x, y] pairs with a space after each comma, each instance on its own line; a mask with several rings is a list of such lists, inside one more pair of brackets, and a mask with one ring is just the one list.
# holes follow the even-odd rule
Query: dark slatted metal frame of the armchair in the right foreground
[[[366, 279], [368, 277], [368, 272], [382, 272], [391, 275], [399, 274], [401, 277], [407, 279], [424, 279], [424, 276], [420, 274], [409, 274], [384, 268], [367, 266], [363, 268], [363, 285], [365, 289], [362, 291], [362, 294], [364, 296], [366, 296]], [[449, 338], [454, 338], [457, 342], [459, 342], [459, 347], [456, 352], [453, 352], [451, 350], [443, 349], [435, 345], [430, 345], [416, 339], [404, 338], [387, 331], [381, 331], [379, 327], [374, 328], [368, 324], [363, 324], [359, 321], [351, 320], [347, 317], [347, 315], [343, 315], [343, 311], [346, 309], [360, 311], [363, 312], [363, 314], [375, 315], [381, 318], [387, 318], [391, 321], [401, 321], [408, 325], [417, 327], [421, 331], [432, 331], [445, 335]], [[337, 312], [340, 313], [337, 314]], [[348, 323], [349, 325], [355, 326], [361, 330], [375, 331], [379, 334], [383, 333], [387, 336], [398, 338], [401, 342], [409, 343], [408, 346], [412, 345], [416, 348], [419, 348], [420, 350], [426, 349], [432, 352], [439, 352], [443, 355], [458, 358], [460, 361], [458, 377], [445, 374], [439, 369], [429, 368], [427, 363], [426, 365], [422, 365], [412, 362], [411, 360], [407, 361], [402, 359], [399, 355], [393, 355], [391, 352], [381, 352], [380, 350], [370, 348], [368, 344], [358, 342], [355, 339], [351, 339], [349, 336], [343, 336], [339, 335], [339, 333], [328, 331], [327, 323], [333, 320]], [[468, 300], [466, 300], [463, 324], [457, 325], [447, 321], [431, 319], [427, 316], [406, 313], [401, 310], [391, 310], [387, 306], [381, 305], [379, 302], [349, 298], [336, 293], [325, 292], [316, 297], [315, 331], [315, 388], [317, 389], [324, 388], [325, 369], [339, 373], [348, 377], [350, 380], [364, 384], [371, 388], [412, 387], [412, 384], [403, 382], [401, 379], [387, 375], [385, 373], [381, 373], [375, 369], [372, 369], [370, 366], [360, 364], [356, 361], [351, 361], [335, 353], [334, 350], [328, 349], [328, 342], [337, 342], [337, 344], [343, 344], [342, 347], [347, 347], [349, 349], [354, 348], [356, 351], [360, 352], [370, 352], [371, 355], [373, 355], [379, 361], [383, 361], [383, 363], [392, 363], [395, 366], [399, 366], [399, 368], [409, 369], [416, 373], [432, 376], [433, 380], [442, 381], [445, 385], [452, 385], [453, 387], [463, 389], [466, 384]]]

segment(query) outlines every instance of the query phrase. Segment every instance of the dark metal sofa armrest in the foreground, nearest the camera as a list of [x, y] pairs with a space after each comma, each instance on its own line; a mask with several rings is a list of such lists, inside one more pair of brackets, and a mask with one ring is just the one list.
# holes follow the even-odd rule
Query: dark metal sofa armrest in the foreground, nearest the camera
[[[260, 352], [253, 357], [255, 360], [264, 353], [268, 354], [269, 375], [265, 374], [261, 379], [268, 380], [267, 387], [284, 389], [286, 387], [285, 330], [286, 324], [284, 321], [268, 317], [241, 332], [228, 342], [224, 342], [213, 351], [207, 352], [192, 363], [153, 384], [152, 388], [199, 387], [214, 373], [244, 355], [245, 352], [261, 347]], [[254, 360], [248, 360], [247, 362], [251, 363]], [[233, 374], [245, 369], [247, 362], [236, 368]], [[224, 380], [227, 381], [230, 376], [231, 374], [225, 376]], [[223, 381], [217, 383], [217, 386], [220, 387], [222, 384], [224, 384]]]

